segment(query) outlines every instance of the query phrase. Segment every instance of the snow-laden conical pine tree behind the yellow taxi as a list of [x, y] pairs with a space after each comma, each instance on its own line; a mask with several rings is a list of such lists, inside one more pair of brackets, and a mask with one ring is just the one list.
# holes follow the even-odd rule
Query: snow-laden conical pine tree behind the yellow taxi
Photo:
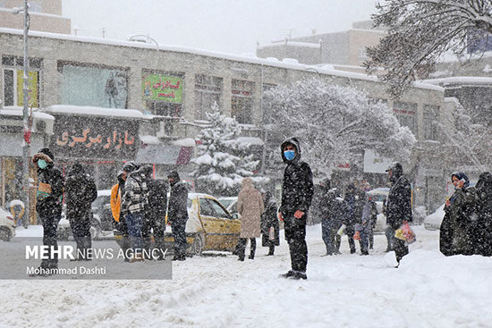
[[259, 161], [253, 160], [250, 144], [238, 139], [241, 126], [235, 119], [220, 114], [216, 104], [206, 115], [209, 126], [197, 136], [201, 144], [199, 156], [191, 160], [197, 166], [191, 176], [201, 192], [235, 196], [241, 189], [242, 178], [252, 176]]

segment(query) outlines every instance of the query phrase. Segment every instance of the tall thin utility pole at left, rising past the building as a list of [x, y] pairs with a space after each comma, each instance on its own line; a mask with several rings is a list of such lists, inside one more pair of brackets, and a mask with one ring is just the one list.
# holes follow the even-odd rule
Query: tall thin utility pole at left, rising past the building
[[24, 108], [22, 109], [24, 144], [22, 145], [22, 191], [24, 195], [24, 216], [22, 225], [27, 228], [30, 220], [30, 119], [29, 119], [29, 55], [28, 55], [28, 31], [30, 16], [28, 13], [28, 0], [24, 0], [24, 75], [22, 77], [22, 96]]

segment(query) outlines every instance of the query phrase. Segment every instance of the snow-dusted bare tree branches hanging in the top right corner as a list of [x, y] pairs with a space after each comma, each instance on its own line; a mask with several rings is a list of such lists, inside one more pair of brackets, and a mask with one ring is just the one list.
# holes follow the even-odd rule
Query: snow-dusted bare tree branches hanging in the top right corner
[[364, 63], [388, 83], [388, 93], [400, 97], [411, 84], [434, 70], [440, 55], [463, 54], [492, 34], [490, 0], [386, 0], [372, 16], [376, 26], [386, 26], [387, 35], [367, 49]]

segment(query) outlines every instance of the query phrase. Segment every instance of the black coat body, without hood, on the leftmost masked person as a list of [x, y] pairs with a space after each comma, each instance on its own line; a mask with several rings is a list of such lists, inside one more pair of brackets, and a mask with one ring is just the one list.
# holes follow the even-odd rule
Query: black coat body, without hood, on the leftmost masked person
[[41, 216], [61, 215], [64, 196], [64, 175], [55, 167], [53, 163], [49, 163], [46, 168], [38, 168], [38, 183], [44, 183], [50, 186], [51, 192], [49, 195], [38, 190], [36, 211]]

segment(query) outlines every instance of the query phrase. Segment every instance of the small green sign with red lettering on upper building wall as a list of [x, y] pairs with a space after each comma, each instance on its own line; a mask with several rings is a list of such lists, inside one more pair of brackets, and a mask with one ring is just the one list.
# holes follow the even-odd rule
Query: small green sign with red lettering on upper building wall
[[142, 99], [182, 103], [182, 78], [161, 74], [142, 74]]

